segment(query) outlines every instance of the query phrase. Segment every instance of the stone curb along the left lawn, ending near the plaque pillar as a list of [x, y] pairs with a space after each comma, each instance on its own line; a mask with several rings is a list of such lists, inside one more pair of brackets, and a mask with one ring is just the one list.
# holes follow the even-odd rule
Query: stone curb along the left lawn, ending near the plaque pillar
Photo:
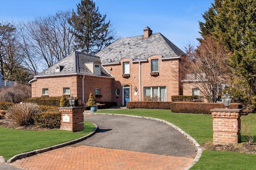
[[21, 154], [16, 154], [12, 158], [10, 158], [7, 162], [11, 163], [14, 160], [18, 160], [18, 159], [25, 158], [25, 157], [28, 157], [28, 156], [33, 156], [33, 155], [36, 155], [36, 154], [39, 154], [39, 153], [42, 153], [42, 152], [47, 152], [49, 150], [58, 149], [58, 148], [66, 147], [68, 145], [73, 145], [75, 143], [81, 142], [81, 141], [91, 137], [92, 135], [94, 135], [96, 133], [96, 131], [99, 128], [96, 124], [94, 124], [94, 126], [95, 126], [95, 128], [93, 129], [93, 131], [91, 133], [89, 133], [88, 135], [84, 136], [84, 137], [80, 137], [78, 139], [74, 139], [72, 141], [68, 141], [68, 142], [61, 143], [61, 144], [58, 144], [58, 145], [54, 145], [54, 146], [47, 147], [47, 148], [32, 150], [30, 152], [24, 152], [24, 153], [21, 153]]

